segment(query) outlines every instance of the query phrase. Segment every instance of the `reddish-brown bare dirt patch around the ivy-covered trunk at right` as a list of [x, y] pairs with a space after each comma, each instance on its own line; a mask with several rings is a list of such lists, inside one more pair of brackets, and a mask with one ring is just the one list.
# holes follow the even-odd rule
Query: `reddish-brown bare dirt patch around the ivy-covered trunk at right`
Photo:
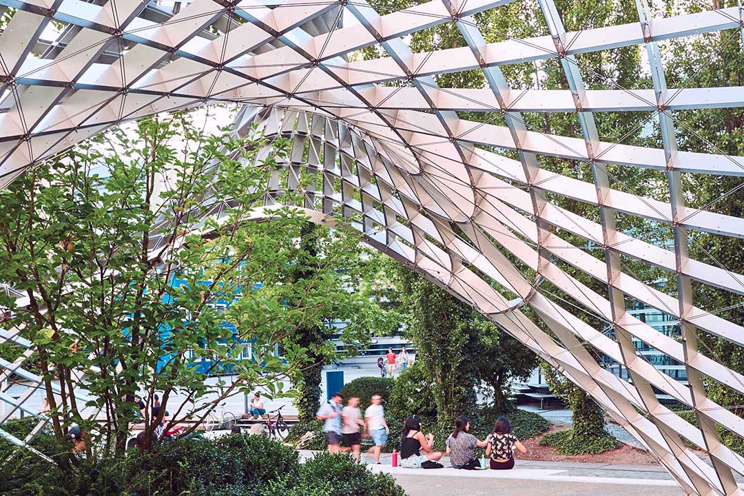
[[522, 444], [527, 448], [527, 453], [516, 453], [518, 460], [538, 460], [547, 462], [582, 462], [582, 463], [620, 463], [623, 465], [657, 465], [656, 458], [647, 451], [633, 448], [629, 445], [621, 445], [620, 448], [612, 451], [605, 451], [603, 454], [581, 454], [566, 455], [557, 454], [552, 446], [541, 446], [539, 440], [545, 434], [565, 431], [568, 425], [551, 425], [550, 430], [538, 437], [532, 439], [523, 439]]

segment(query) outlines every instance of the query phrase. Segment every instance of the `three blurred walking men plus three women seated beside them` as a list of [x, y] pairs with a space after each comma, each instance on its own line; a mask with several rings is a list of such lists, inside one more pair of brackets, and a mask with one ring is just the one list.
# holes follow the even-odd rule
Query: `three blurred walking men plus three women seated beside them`
[[[390, 428], [385, 422], [385, 409], [382, 407], [382, 397], [374, 394], [371, 405], [365, 410], [364, 419], [359, 410], [359, 398], [349, 398], [343, 406], [344, 397], [335, 393], [327, 403], [321, 405], [316, 414], [324, 422], [323, 431], [328, 439], [328, 451], [339, 453], [351, 451], [353, 457], [359, 460], [362, 436], [371, 437], [374, 446], [374, 462], [379, 465], [379, 455], [382, 448], [388, 444]], [[475, 458], [476, 448], [486, 448], [486, 457], [490, 458], [490, 468], [494, 470], [509, 470], [514, 467], [514, 451], [526, 453], [527, 449], [511, 434], [511, 424], [504, 417], [498, 417], [493, 432], [484, 441], [469, 434], [470, 422], [466, 416], [458, 416], [455, 420], [455, 430], [446, 441], [446, 454], [454, 468], [476, 470], [481, 463]], [[341, 447], [341, 439], [345, 447]], [[426, 462], [437, 462], [442, 458], [441, 451], [434, 451], [434, 435], [423, 434], [421, 419], [417, 415], [408, 416], [403, 424], [400, 440], [400, 466], [420, 468]], [[439, 466], [440, 467], [440, 466]]]

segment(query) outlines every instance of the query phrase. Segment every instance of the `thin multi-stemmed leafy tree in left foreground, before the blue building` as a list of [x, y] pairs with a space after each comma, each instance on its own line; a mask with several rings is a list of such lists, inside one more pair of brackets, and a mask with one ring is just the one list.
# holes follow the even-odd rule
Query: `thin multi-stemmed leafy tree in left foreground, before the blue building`
[[[272, 182], [286, 184], [286, 148], [255, 131], [205, 135], [178, 113], [86, 141], [0, 192], [0, 283], [28, 298], [19, 308], [2, 297], [2, 325], [34, 344], [60, 442], [78, 423], [95, 441], [89, 456], [124, 451], [136, 394], [149, 443], [166, 410], [169, 429], [229, 396], [281, 394], [281, 380], [300, 380], [309, 350], [295, 332], [351, 304], [335, 250], [356, 251], [359, 236], [319, 229], [334, 241], [326, 262], [301, 285], [282, 284], [307, 225], [292, 206], [301, 199]], [[269, 195], [286, 205], [256, 210]], [[224, 372], [234, 381], [207, 380]], [[97, 410], [101, 424], [89, 420]]]

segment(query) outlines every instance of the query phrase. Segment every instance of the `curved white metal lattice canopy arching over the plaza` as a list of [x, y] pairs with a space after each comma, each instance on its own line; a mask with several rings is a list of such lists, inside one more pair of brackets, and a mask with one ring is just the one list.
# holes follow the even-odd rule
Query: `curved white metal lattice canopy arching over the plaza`
[[[697, 308], [691, 281], [744, 294], [744, 277], [690, 259], [687, 233], [741, 238], [744, 219], [686, 207], [681, 176], [741, 176], [744, 158], [677, 151], [670, 112], [744, 106], [744, 89], [667, 88], [657, 46], [739, 29], [740, 9], [652, 19], [641, 2], [639, 22], [567, 33], [553, 1], [539, 0], [545, 36], [487, 43], [473, 16], [510, 1], [432, 0], [381, 16], [366, 0], [194, 0], [169, 9], [150, 0], [0, 0], [0, 13], [13, 10], [0, 34], [0, 187], [124, 120], [251, 103], [237, 132], [258, 122], [266, 135], [291, 138], [286, 187], [297, 187], [299, 167], [323, 176], [322, 187], [305, 192], [304, 208], [315, 222], [346, 218], [375, 248], [506, 329], [586, 390], [688, 493], [740, 494], [734, 472], [744, 474], [744, 458], [722, 445], [716, 428], [744, 436], [744, 419], [708, 399], [705, 382], [744, 394], [744, 378], [699, 352], [696, 333], [743, 346], [744, 329]], [[354, 22], [344, 26], [341, 19]], [[50, 31], [51, 23], [62, 28]], [[411, 51], [408, 35], [445, 23], [458, 28], [466, 46]], [[585, 88], [575, 55], [632, 45], [645, 45], [652, 88]], [[350, 57], [369, 46], [385, 57]], [[501, 72], [504, 65], [549, 59], [559, 60], [570, 90], [514, 90]], [[438, 74], [470, 70], [483, 71], [484, 88], [437, 86]], [[391, 81], [403, 84], [383, 84]], [[460, 111], [496, 111], [505, 125], [473, 122]], [[639, 111], [654, 112], [663, 149], [601, 140], [592, 112]], [[530, 129], [521, 112], [574, 113], [581, 138]], [[504, 150], [516, 150], [518, 159]], [[545, 170], [539, 155], [588, 162], [591, 180]], [[613, 189], [606, 164], [661, 171], [670, 202]], [[599, 222], [551, 202], [557, 196], [596, 207]], [[669, 226], [673, 245], [618, 232], [618, 215]], [[559, 231], [600, 247], [604, 260]], [[624, 272], [621, 257], [668, 271], [675, 296]], [[607, 294], [589, 289], [562, 264], [606, 284]], [[614, 334], [560, 306], [541, 281], [609, 323]], [[678, 319], [682, 341], [626, 312], [626, 295]], [[527, 318], [527, 308], [551, 334]], [[40, 381], [22, 368], [32, 344], [10, 331], [0, 339], [27, 348], [14, 363], [0, 361], [0, 379], [15, 373]], [[684, 364], [689, 384], [644, 361], [634, 339]], [[622, 364], [631, 381], [600, 367], [585, 347]], [[661, 405], [655, 390], [694, 410], [698, 425]], [[0, 392], [11, 406], [0, 423], [25, 399]]]

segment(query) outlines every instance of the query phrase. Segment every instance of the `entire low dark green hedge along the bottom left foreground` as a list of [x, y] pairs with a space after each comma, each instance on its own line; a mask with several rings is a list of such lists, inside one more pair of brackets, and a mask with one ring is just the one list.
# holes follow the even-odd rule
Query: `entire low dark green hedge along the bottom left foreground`
[[[11, 428], [21, 434], [24, 425]], [[297, 451], [269, 437], [230, 434], [77, 460], [67, 471], [21, 450], [0, 469], [0, 495], [403, 496], [403, 489], [346, 456], [324, 454], [301, 464]]]

